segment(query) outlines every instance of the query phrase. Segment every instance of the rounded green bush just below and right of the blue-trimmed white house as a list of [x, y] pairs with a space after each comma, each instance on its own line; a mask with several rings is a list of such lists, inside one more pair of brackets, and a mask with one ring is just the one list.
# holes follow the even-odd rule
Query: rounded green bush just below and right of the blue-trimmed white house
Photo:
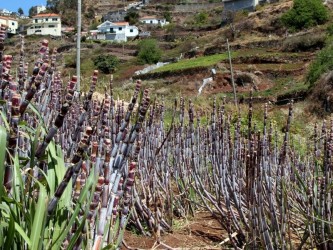
[[138, 44], [139, 53], [138, 60], [141, 64], [152, 64], [157, 63], [162, 56], [162, 51], [157, 45], [157, 41], [155, 39], [146, 39], [142, 40]]

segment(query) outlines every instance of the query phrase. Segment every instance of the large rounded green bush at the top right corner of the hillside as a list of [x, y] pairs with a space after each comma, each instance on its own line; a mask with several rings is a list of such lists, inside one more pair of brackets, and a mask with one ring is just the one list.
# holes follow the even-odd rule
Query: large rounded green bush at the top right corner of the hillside
[[290, 30], [306, 29], [328, 20], [328, 11], [321, 0], [294, 0], [294, 6], [281, 17]]

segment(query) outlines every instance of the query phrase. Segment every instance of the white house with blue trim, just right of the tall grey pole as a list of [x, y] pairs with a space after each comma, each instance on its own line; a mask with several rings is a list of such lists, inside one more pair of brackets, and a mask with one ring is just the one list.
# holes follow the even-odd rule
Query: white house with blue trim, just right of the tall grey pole
[[139, 29], [136, 26], [129, 25], [128, 22], [110, 22], [97, 26], [97, 39], [126, 42], [128, 38], [136, 37]]

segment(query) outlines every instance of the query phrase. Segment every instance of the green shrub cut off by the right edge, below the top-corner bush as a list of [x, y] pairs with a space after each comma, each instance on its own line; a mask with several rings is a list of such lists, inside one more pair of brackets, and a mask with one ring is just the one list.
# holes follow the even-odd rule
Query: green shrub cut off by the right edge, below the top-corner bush
[[310, 83], [310, 87], [314, 86], [320, 76], [330, 70], [333, 70], [333, 45], [329, 44], [322, 49], [316, 59], [310, 66], [307, 74], [307, 82]]

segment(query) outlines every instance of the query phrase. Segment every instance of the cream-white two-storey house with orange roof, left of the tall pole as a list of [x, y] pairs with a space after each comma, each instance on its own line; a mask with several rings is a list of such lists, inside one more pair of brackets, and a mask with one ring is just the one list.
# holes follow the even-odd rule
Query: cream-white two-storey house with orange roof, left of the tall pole
[[32, 17], [27, 35], [61, 36], [61, 19], [58, 14], [38, 14]]

